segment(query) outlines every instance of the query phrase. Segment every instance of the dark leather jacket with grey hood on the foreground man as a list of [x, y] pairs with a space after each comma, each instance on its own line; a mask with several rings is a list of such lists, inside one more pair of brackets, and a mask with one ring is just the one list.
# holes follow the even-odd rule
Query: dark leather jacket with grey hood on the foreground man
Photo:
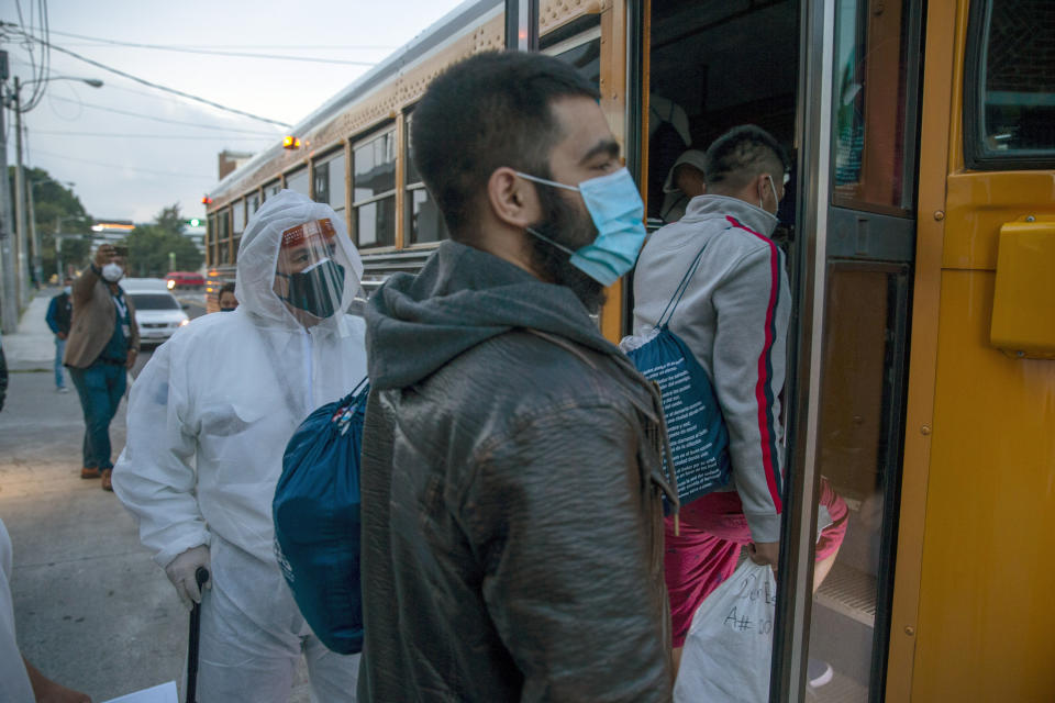
[[360, 701], [669, 701], [652, 387], [454, 242], [366, 320]]

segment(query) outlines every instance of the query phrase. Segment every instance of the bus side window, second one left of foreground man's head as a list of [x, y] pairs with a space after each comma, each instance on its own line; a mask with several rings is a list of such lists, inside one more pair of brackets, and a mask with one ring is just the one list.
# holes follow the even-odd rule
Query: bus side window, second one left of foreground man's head
[[396, 244], [396, 131], [371, 136], [353, 149], [356, 244]]

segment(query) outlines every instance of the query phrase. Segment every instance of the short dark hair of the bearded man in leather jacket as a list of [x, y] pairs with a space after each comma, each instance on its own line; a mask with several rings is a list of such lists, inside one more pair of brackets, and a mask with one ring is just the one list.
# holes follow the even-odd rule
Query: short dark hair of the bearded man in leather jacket
[[566, 97], [600, 99], [575, 67], [542, 54], [477, 54], [432, 81], [414, 109], [411, 158], [453, 238], [473, 236], [474, 207], [495, 169], [549, 176], [560, 137], [552, 103]]

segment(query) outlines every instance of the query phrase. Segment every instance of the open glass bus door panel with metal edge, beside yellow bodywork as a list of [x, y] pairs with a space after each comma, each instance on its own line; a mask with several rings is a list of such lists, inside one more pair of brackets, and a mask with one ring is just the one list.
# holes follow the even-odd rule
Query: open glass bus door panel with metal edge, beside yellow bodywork
[[[915, 252], [920, 5], [822, 0], [802, 12], [775, 701], [884, 700]], [[843, 505], [842, 546], [818, 561], [819, 529]]]

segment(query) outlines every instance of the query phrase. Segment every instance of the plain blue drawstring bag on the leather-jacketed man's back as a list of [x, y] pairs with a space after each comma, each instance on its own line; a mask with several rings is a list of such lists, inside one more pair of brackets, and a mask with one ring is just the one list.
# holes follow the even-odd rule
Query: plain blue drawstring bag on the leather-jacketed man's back
[[363, 650], [359, 456], [366, 379], [300, 424], [271, 503], [275, 555], [301, 615], [326, 647]]

